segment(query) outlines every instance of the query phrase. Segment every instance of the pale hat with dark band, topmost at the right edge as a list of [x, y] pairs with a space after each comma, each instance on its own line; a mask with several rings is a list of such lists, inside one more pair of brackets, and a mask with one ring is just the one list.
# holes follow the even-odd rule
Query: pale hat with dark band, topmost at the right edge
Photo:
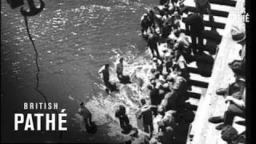
[[246, 27], [244, 25], [232, 26], [231, 36], [235, 42], [242, 42], [246, 39]]

